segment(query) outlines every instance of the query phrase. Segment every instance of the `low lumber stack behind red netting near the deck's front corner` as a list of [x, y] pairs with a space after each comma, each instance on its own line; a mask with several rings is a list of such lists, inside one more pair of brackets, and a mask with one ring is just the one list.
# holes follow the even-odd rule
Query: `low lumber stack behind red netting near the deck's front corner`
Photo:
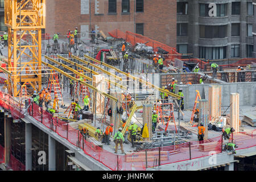
[[[159, 151], [147, 151], [147, 161], [159, 159]], [[168, 160], [169, 152], [160, 151], [160, 160]], [[126, 153], [126, 162], [145, 162], [146, 152], [128, 152]]]

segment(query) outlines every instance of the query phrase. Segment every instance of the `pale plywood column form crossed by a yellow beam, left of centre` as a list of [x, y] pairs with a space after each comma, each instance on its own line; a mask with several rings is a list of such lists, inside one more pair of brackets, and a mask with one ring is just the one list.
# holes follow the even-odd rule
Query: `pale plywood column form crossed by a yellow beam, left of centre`
[[[93, 75], [93, 86], [98, 90], [104, 92], [106, 90], [105, 85], [105, 76], [104, 75]], [[97, 97], [96, 97], [97, 93]], [[96, 99], [95, 99], [96, 98]], [[93, 90], [93, 113], [95, 112], [95, 100], [96, 100], [96, 114], [102, 114], [104, 112], [104, 99], [105, 96], [102, 96], [100, 93]]]

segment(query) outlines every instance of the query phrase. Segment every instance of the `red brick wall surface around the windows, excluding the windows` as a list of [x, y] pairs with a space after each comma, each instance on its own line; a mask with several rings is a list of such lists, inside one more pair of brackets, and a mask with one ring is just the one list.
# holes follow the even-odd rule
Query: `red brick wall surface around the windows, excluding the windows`
[[[117, 0], [117, 14], [108, 14], [108, 0], [104, 1], [104, 14], [95, 15], [95, 0], [91, 0], [91, 27], [108, 32], [119, 28], [134, 32], [134, 0], [130, 0], [130, 14], [122, 15], [122, 0]], [[81, 24], [89, 25], [90, 16], [81, 15], [81, 1], [47, 1], [46, 32], [65, 34]], [[102, 7], [102, 6], [101, 6]], [[144, 13], [135, 14], [135, 23], [144, 23], [144, 36], [176, 47], [176, 0], [144, 0]]]

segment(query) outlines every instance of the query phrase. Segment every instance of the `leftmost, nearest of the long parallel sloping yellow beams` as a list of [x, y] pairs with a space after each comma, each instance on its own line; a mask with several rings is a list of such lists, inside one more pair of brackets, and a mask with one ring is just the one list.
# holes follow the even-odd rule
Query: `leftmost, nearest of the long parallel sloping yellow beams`
[[95, 87], [92, 86], [92, 85], [86, 84], [86, 82], [84, 82], [84, 81], [81, 81], [81, 80], [79, 80], [79, 79], [77, 79], [77, 78], [75, 78], [75, 77], [73, 77], [73, 76], [68, 75], [66, 72], [62, 71], [61, 69], [56, 68], [55, 66], [53, 66], [53, 65], [51, 65], [51, 64], [45, 63], [44, 61], [42, 61], [42, 63], [43, 63], [44, 65], [46, 65], [47, 67], [50, 67], [50, 68], [54, 69], [54, 70], [57, 71], [57, 72], [60, 72], [60, 73], [63, 74], [64, 76], [66, 76], [66, 77], [68, 77], [68, 78], [71, 78], [72, 80], [74, 80], [74, 81], [76, 81], [76, 82], [79, 82], [80, 84], [83, 84], [83, 85], [87, 86], [87, 87], [90, 88], [90, 89], [95, 90], [96, 92], [98, 92], [98, 93], [100, 93], [100, 94], [102, 94], [102, 95], [108, 97], [109, 99], [111, 99], [111, 100], [113, 100], [113, 101], [115, 101], [115, 102], [118, 102], [118, 99], [117, 99], [117, 98], [115, 98], [115, 97], [113, 97], [113, 96], [110, 96], [109, 94], [107, 94], [107, 93], [105, 93], [105, 92], [102, 92], [101, 90], [98, 90], [97, 88], [95, 88]]

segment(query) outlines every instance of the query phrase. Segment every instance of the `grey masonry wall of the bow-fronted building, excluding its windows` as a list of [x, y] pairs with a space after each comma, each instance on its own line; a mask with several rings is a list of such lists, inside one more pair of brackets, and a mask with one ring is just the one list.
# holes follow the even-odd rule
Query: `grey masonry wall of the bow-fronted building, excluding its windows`
[[[177, 45], [187, 44], [188, 52], [200, 57], [200, 47], [224, 47], [226, 46], [226, 58], [231, 58], [231, 45], [240, 44], [240, 56], [247, 57], [246, 45], [253, 45], [253, 37], [247, 36], [247, 23], [253, 24], [254, 16], [247, 14], [247, 2], [251, 0], [177, 0], [188, 2], [188, 14], [177, 15], [177, 23], [188, 23], [187, 36], [178, 36]], [[232, 2], [241, 2], [240, 15], [232, 15]], [[226, 16], [203, 17], [200, 16], [200, 3], [227, 3]], [[255, 9], [254, 9], [255, 11]], [[232, 23], [240, 23], [240, 36], [232, 36]], [[200, 25], [227, 26], [225, 38], [205, 39], [200, 38]]]

